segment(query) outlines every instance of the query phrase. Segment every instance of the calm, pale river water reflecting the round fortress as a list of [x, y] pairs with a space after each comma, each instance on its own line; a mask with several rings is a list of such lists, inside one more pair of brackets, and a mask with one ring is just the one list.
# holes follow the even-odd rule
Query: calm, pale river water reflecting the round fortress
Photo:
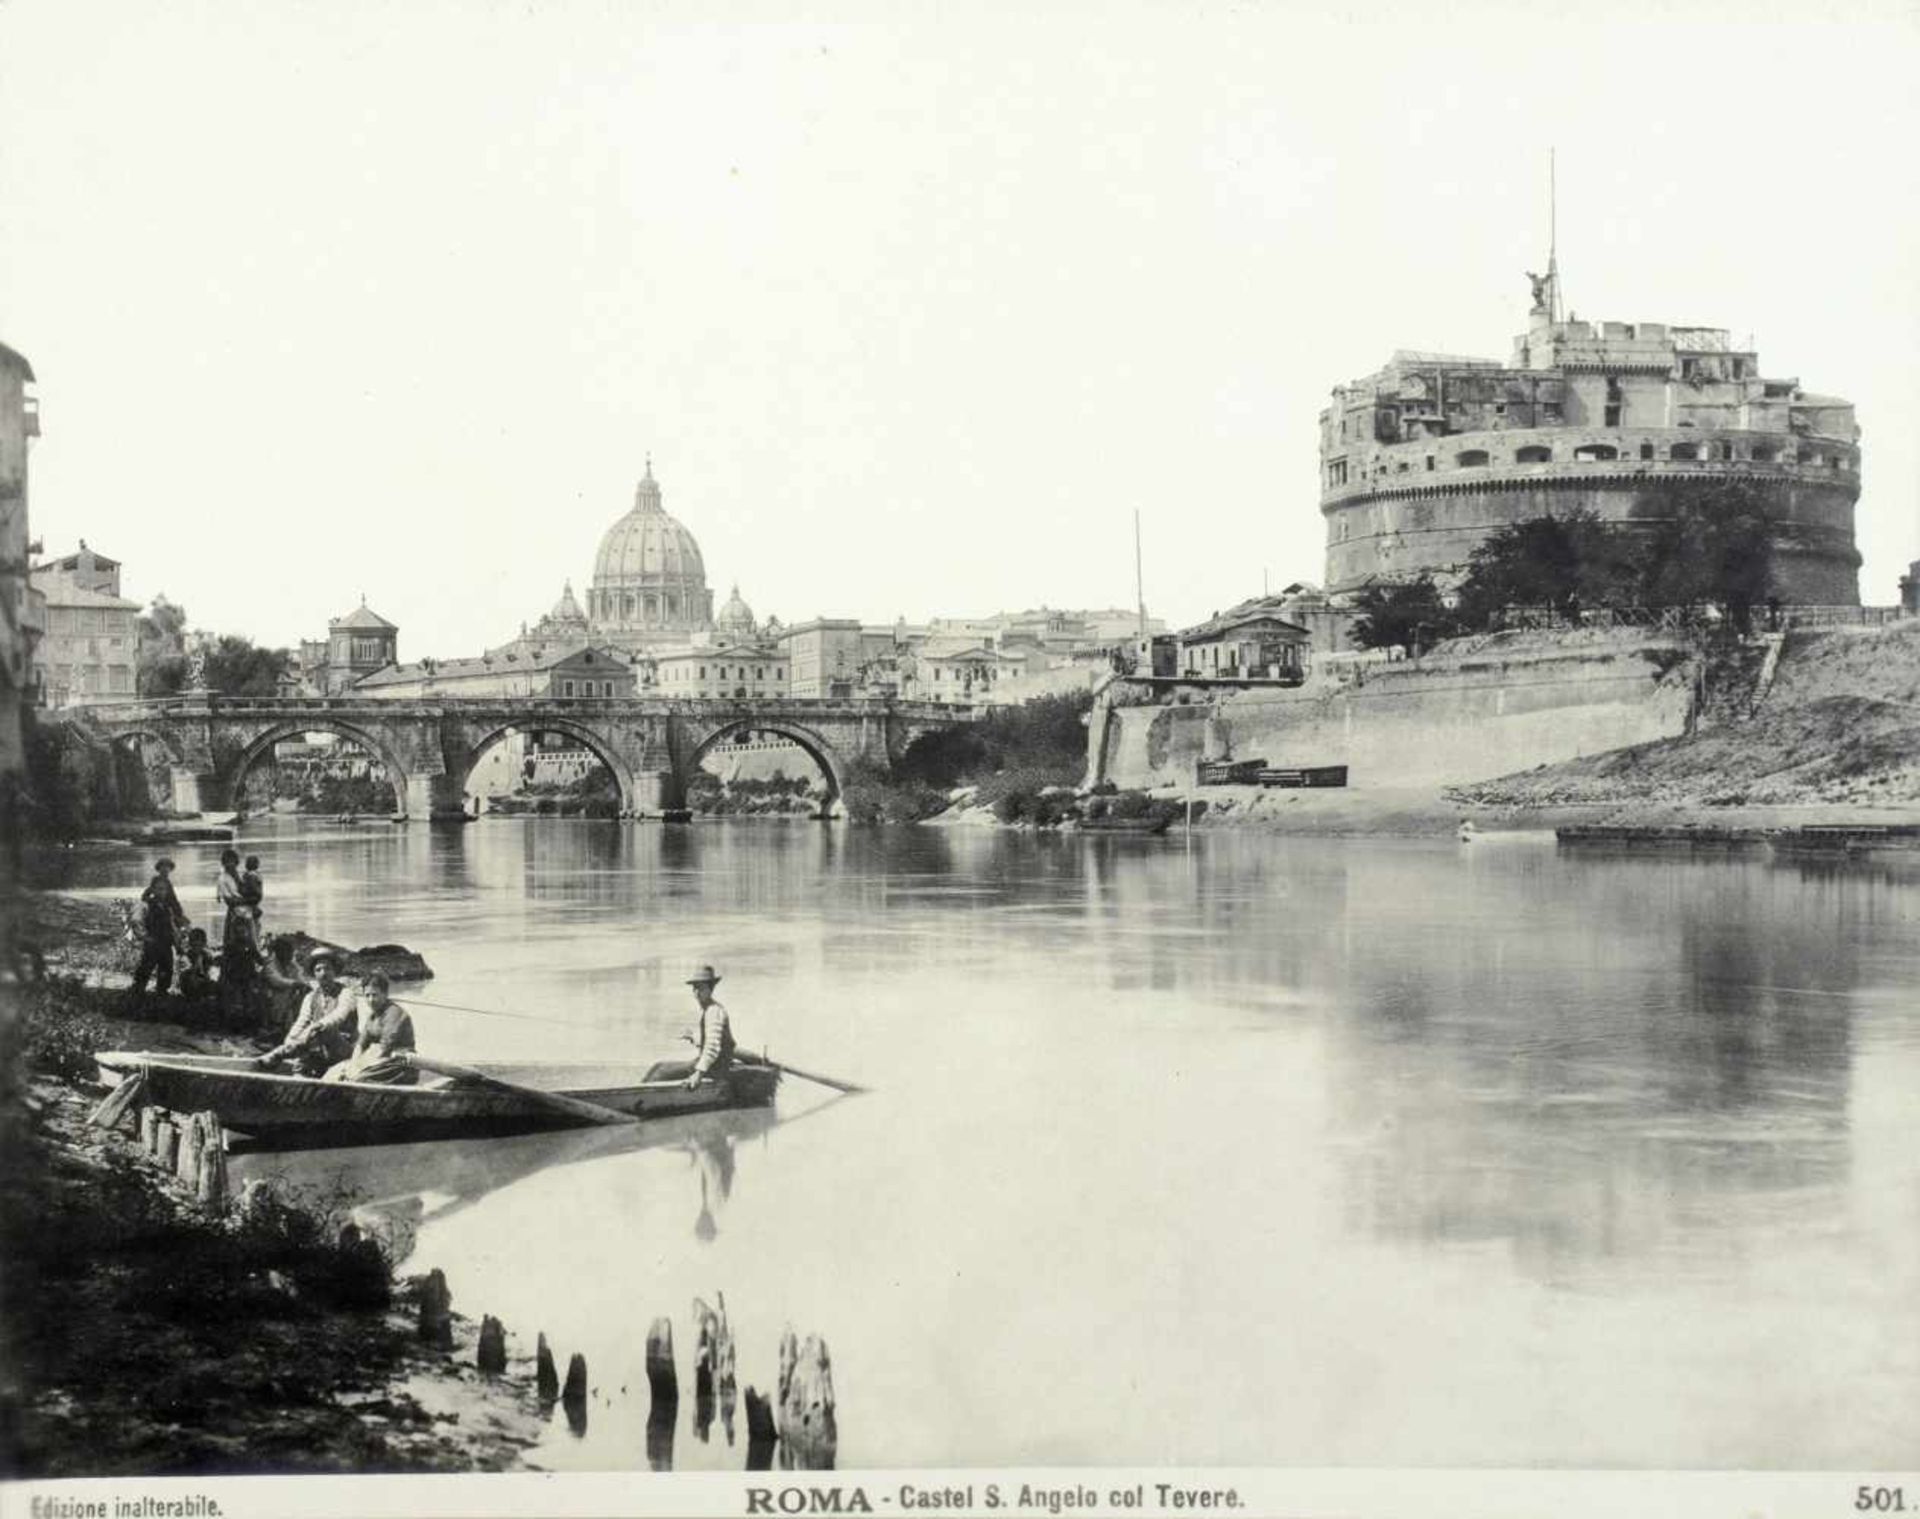
[[[645, 1467], [647, 1323], [685, 1386], [716, 1292], [741, 1386], [828, 1338], [847, 1467], [1920, 1459], [1920, 862], [280, 830], [269, 929], [543, 1020], [417, 1008], [426, 1052], [676, 1054], [710, 960], [747, 1045], [872, 1087], [244, 1162], [344, 1175], [457, 1310], [586, 1352], [545, 1465]], [[175, 853], [204, 922], [215, 851]]]

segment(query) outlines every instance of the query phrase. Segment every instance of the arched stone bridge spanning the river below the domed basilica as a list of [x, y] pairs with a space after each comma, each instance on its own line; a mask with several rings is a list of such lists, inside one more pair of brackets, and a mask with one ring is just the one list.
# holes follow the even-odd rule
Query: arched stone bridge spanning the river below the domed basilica
[[753, 699], [668, 701], [559, 697], [223, 697], [98, 703], [86, 716], [115, 743], [157, 743], [173, 776], [173, 810], [238, 808], [248, 770], [273, 745], [301, 734], [338, 734], [386, 766], [403, 816], [459, 816], [467, 778], [511, 730], [563, 734], [593, 753], [620, 785], [628, 816], [685, 805], [701, 757], [739, 734], [793, 739], [822, 770], [828, 807], [849, 766], [891, 770], [922, 734], [966, 722], [972, 709], [929, 701]]

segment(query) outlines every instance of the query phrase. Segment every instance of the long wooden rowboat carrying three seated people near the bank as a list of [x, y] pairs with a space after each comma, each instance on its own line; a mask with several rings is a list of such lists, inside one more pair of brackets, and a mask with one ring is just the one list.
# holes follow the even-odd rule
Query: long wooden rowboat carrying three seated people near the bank
[[[766, 1108], [780, 1066], [735, 1056], [718, 1081], [687, 1087], [655, 1064], [639, 1079], [603, 1066], [492, 1066], [417, 1060], [419, 1085], [317, 1081], [253, 1070], [248, 1056], [104, 1050], [121, 1079], [142, 1079], [140, 1100], [175, 1112], [215, 1112], [221, 1125], [257, 1139], [303, 1145], [378, 1145], [405, 1139], [526, 1133], [632, 1123], [720, 1108]], [[682, 1066], [684, 1070], [684, 1066]]]

